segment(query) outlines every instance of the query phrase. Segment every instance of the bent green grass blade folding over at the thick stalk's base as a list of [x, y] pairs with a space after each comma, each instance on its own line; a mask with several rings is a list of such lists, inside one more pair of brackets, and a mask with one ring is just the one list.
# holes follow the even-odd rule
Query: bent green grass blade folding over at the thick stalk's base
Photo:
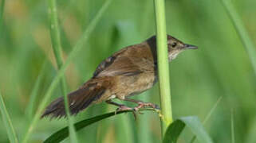
[[211, 137], [207, 134], [203, 128], [203, 124], [199, 121], [199, 118], [195, 116], [179, 118], [175, 122], [168, 126], [167, 131], [163, 137], [163, 143], [176, 143], [179, 134], [187, 126], [191, 131], [199, 138], [202, 143], [212, 143]]

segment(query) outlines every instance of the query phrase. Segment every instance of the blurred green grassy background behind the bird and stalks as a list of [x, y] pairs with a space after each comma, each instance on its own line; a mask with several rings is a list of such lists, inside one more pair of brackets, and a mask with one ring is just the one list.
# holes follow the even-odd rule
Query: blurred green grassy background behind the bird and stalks
[[[256, 1], [232, 2], [256, 44]], [[103, 3], [104, 0], [57, 1], [64, 59]], [[167, 0], [166, 9], [167, 33], [199, 47], [183, 52], [170, 64], [174, 118], [196, 115], [203, 121], [219, 97], [223, 97], [205, 124], [214, 142], [231, 141], [231, 109], [235, 141], [256, 142], [256, 76], [221, 2]], [[30, 124], [26, 107], [37, 76], [41, 71], [44, 73], [34, 110], [57, 72], [47, 12], [45, 1], [6, 0], [0, 17], [0, 89], [19, 138]], [[155, 31], [152, 0], [114, 0], [65, 72], [69, 91], [89, 79], [101, 60], [120, 48], [144, 41]], [[45, 61], [45, 69], [41, 70]], [[61, 89], [57, 88], [51, 100], [59, 96]], [[134, 98], [159, 104], [158, 84]], [[115, 109], [105, 103], [97, 104], [75, 119], [80, 121]], [[0, 123], [0, 142], [8, 142], [2, 118]], [[33, 130], [30, 142], [42, 142], [64, 126], [67, 126], [65, 119], [42, 119]], [[82, 142], [160, 142], [160, 120], [152, 112], [145, 112], [136, 121], [132, 114], [121, 114], [77, 134]], [[192, 136], [185, 129], [179, 142], [189, 142]]]

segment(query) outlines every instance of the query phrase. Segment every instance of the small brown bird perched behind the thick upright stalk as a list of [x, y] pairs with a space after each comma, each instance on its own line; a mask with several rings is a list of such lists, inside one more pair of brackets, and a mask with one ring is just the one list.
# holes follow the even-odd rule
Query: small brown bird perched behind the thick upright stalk
[[[191, 44], [184, 44], [170, 35], [167, 35], [167, 47], [169, 61], [174, 60], [180, 52], [186, 49], [197, 48]], [[153, 36], [140, 44], [122, 48], [103, 60], [93, 73], [93, 77], [77, 91], [68, 95], [70, 113], [77, 114], [89, 105], [99, 102], [118, 106], [116, 111], [139, 110], [147, 106], [157, 108], [150, 102], [129, 99], [132, 95], [138, 95], [153, 87], [157, 80], [156, 36]], [[112, 99], [116, 98], [136, 102], [138, 106], [131, 108], [112, 102]], [[52, 118], [66, 116], [63, 97], [56, 99], [46, 107], [41, 118], [45, 116]]]

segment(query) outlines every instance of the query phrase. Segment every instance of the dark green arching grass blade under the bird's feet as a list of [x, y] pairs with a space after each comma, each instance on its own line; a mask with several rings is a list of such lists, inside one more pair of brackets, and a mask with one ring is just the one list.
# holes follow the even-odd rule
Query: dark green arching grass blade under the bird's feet
[[[155, 110], [155, 109], [144, 109], [144, 110]], [[143, 110], [141, 110], [143, 111]], [[116, 114], [123, 114], [123, 113], [127, 113], [127, 112], [131, 112], [131, 111], [121, 111], [121, 112], [117, 112]], [[96, 117], [93, 117], [93, 118], [88, 118], [88, 119], [85, 119], [81, 122], [77, 122], [74, 124], [76, 130], [81, 130], [81, 129], [84, 129], [86, 126], [89, 126], [95, 122], [98, 122], [100, 120], [103, 120], [105, 118], [109, 118], [109, 117], [112, 117], [114, 115], [116, 115], [115, 112], [111, 112], [111, 113], [108, 113], [108, 114], [100, 114]], [[62, 128], [60, 130], [58, 130], [56, 133], [53, 133], [50, 137], [48, 137], [44, 143], [50, 143], [50, 142], [60, 142], [62, 140], [64, 140], [66, 137], [69, 136], [69, 129], [68, 127], [65, 127], [65, 128]]]

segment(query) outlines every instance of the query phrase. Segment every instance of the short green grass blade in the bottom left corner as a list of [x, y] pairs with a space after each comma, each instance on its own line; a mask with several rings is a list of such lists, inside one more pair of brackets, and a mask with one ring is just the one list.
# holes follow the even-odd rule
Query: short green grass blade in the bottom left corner
[[3, 102], [2, 95], [0, 92], [0, 110], [2, 114], [2, 121], [4, 122], [4, 125], [6, 126], [7, 135], [9, 137], [9, 140], [11, 143], [18, 142], [18, 137], [15, 133], [14, 126], [12, 125], [12, 122], [10, 121], [9, 114], [6, 110], [5, 103]]

